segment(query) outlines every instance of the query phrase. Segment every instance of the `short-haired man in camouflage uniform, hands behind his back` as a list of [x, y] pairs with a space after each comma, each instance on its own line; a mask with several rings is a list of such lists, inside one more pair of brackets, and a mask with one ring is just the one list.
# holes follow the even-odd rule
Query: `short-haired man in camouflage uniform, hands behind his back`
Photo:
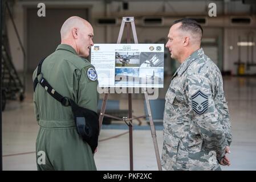
[[202, 27], [181, 19], [170, 27], [166, 48], [181, 63], [165, 97], [162, 167], [220, 170], [230, 165], [231, 126], [221, 72], [200, 48]]

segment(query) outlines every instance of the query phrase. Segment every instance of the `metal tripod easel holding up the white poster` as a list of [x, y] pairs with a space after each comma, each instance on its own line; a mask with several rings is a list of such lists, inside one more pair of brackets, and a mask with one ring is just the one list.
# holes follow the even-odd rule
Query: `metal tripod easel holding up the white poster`
[[[137, 44], [138, 39], [137, 39], [135, 23], [134, 23], [134, 18], [133, 17], [123, 17], [121, 27], [120, 27], [120, 31], [119, 31], [119, 36], [118, 36], [118, 39], [117, 39], [117, 44], [121, 43], [121, 37], [123, 35], [125, 23], [127, 23], [126, 24], [127, 25], [127, 43], [131, 42], [131, 36], [130, 36], [130, 23], [131, 23], [133, 39], [134, 39], [135, 44]], [[129, 124], [127, 123], [127, 125], [129, 126], [130, 170], [133, 171], [132, 120], [133, 119], [138, 119], [138, 118], [149, 117], [149, 122], [150, 122], [150, 126], [151, 126], [151, 135], [152, 135], [152, 138], [153, 138], [153, 144], [154, 144], [155, 153], [156, 153], [157, 167], [158, 167], [159, 171], [161, 171], [162, 167], [161, 167], [161, 163], [160, 163], [159, 148], [157, 146], [156, 130], [155, 130], [155, 125], [153, 123], [153, 118], [152, 118], [152, 114], [151, 114], [151, 107], [150, 107], [149, 100], [148, 100], [148, 92], [144, 88], [141, 88], [141, 89], [143, 90], [144, 95], [145, 95], [145, 101], [146, 101], [146, 105], [147, 105], [148, 115], [143, 115], [141, 117], [132, 118], [132, 94], [131, 93], [128, 93], [128, 118], [127, 117], [118, 118], [118, 117], [113, 117], [113, 116], [108, 115], [108, 114], [104, 114], [105, 113], [105, 107], [107, 105], [107, 99], [108, 99], [108, 93], [105, 93], [103, 103], [101, 105], [101, 111], [100, 111], [100, 117], [99, 117], [100, 129], [101, 129], [101, 126], [102, 126], [102, 121], [103, 121], [104, 115], [109, 117], [109, 118], [118, 119], [120, 121], [123, 120], [125, 123], [127, 123], [127, 121], [129, 122]]]

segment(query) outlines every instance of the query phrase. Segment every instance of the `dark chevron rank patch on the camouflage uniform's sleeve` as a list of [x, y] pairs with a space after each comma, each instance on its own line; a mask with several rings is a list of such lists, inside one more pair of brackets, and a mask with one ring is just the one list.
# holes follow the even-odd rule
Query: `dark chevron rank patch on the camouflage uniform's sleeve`
[[208, 96], [198, 90], [192, 96], [192, 109], [195, 113], [201, 115], [208, 110]]

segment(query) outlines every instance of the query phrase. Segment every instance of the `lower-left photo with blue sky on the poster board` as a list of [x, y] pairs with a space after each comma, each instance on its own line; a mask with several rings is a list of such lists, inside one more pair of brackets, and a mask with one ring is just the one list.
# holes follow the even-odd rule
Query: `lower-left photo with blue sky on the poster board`
[[115, 85], [135, 85], [139, 82], [139, 68], [115, 69]]

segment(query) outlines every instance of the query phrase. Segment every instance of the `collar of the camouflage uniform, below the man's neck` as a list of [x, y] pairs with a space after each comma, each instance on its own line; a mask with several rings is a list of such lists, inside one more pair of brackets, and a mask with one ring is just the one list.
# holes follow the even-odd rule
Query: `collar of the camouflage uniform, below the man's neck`
[[201, 57], [204, 54], [205, 53], [202, 48], [198, 49], [197, 51], [194, 51], [192, 55], [190, 55], [177, 69], [178, 76], [180, 77], [194, 60], [196, 60], [198, 57]]

